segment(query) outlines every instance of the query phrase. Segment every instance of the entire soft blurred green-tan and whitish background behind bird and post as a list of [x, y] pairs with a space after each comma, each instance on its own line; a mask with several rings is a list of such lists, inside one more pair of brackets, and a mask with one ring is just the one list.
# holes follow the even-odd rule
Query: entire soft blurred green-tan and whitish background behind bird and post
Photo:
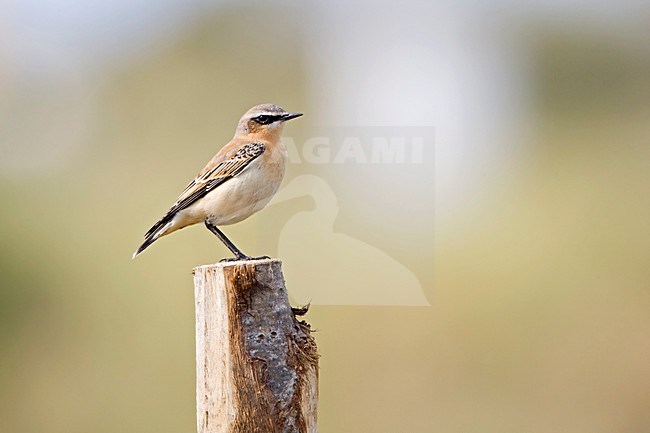
[[[2, 5], [0, 432], [195, 430], [191, 270], [226, 251], [131, 253], [262, 102], [306, 113], [298, 145], [436, 131], [417, 167], [289, 165], [431, 304], [312, 307], [321, 432], [650, 431], [647, 3]], [[226, 232], [276, 254], [312, 207]]]

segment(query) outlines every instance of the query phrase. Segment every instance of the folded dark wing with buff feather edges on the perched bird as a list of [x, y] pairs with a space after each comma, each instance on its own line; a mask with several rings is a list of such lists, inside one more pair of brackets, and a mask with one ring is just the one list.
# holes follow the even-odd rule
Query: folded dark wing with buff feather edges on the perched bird
[[[234, 143], [233, 143], [234, 144]], [[167, 211], [164, 217], [149, 229], [144, 235], [148, 238], [155, 234], [158, 229], [167, 224], [179, 211], [188, 208], [208, 192], [237, 176], [246, 167], [266, 150], [261, 142], [247, 142], [237, 146], [235, 149], [224, 147], [215, 158], [190, 182], [185, 190], [176, 200], [176, 203]], [[223, 152], [227, 151], [227, 152]], [[230, 155], [228, 155], [230, 154]]]

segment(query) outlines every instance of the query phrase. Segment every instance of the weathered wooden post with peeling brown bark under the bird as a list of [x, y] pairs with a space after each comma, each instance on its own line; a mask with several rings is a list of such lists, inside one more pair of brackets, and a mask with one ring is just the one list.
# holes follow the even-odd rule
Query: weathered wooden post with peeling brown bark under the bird
[[198, 433], [316, 433], [318, 352], [280, 260], [194, 269]]

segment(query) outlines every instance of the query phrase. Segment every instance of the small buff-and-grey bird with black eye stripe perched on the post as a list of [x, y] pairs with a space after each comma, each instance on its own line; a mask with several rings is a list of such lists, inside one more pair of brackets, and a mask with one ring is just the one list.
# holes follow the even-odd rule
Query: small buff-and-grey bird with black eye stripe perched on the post
[[261, 210], [284, 176], [287, 149], [280, 140], [287, 120], [302, 116], [262, 104], [242, 116], [235, 136], [190, 182], [176, 203], [144, 235], [135, 258], [161, 236], [200, 222], [235, 255], [251, 260], [217, 226], [235, 224]]

